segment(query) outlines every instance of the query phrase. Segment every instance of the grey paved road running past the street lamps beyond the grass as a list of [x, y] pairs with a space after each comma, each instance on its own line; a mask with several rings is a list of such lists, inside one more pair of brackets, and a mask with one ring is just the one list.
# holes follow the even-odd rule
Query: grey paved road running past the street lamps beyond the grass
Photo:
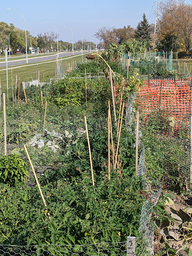
[[[83, 51], [86, 52], [86, 51]], [[80, 51], [74, 52], [73, 55], [79, 54]], [[58, 57], [66, 57], [66, 56], [71, 56], [71, 52], [61, 52], [58, 53]], [[46, 55], [46, 56], [39, 56], [39, 57], [32, 57], [32, 58], [28, 58], [28, 63], [37, 63], [37, 62], [42, 62], [42, 61], [47, 61], [47, 60], [53, 60], [55, 59], [57, 56], [56, 54], [51, 54], [51, 55]], [[23, 59], [14, 59], [14, 60], [8, 60], [7, 61], [7, 65], [8, 66], [15, 66], [15, 65], [22, 65], [22, 64], [26, 64], [26, 58]], [[1, 61], [0, 62], [0, 67], [5, 67], [6, 66], [6, 62], [5, 61]]]

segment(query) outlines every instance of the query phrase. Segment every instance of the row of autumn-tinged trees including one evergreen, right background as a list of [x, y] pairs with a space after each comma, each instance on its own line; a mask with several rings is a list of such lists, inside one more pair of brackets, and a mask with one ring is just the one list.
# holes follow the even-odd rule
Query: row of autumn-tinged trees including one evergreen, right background
[[110, 43], [123, 44], [127, 40], [146, 41], [146, 47], [158, 51], [192, 50], [192, 3], [184, 0], [162, 0], [159, 3], [156, 24], [148, 23], [145, 13], [136, 29], [130, 25], [123, 28], [103, 26], [95, 36], [107, 48]]

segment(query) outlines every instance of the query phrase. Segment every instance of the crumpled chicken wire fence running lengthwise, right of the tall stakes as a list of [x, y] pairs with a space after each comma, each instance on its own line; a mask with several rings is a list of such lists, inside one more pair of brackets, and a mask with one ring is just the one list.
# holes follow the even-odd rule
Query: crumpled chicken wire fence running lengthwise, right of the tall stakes
[[[129, 94], [126, 102], [125, 126], [128, 132], [136, 133], [136, 123], [134, 123], [135, 108], [134, 102], [137, 98], [137, 91]], [[135, 126], [132, 130], [132, 125]], [[142, 177], [142, 187], [144, 195], [147, 198], [142, 205], [139, 232], [143, 233], [143, 240], [146, 245], [144, 247], [145, 255], [154, 255], [154, 226], [151, 219], [152, 209], [158, 202], [161, 193], [161, 184], [158, 180], [151, 178], [145, 161], [145, 149], [142, 143], [142, 132], [139, 130], [139, 162], [138, 176]], [[135, 146], [135, 145], [134, 145]]]

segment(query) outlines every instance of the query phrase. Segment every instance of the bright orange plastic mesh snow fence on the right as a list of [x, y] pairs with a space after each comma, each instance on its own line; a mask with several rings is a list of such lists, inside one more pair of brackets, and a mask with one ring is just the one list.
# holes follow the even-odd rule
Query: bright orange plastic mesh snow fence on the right
[[187, 124], [192, 96], [190, 86], [190, 79], [157, 79], [149, 80], [149, 84], [145, 80], [138, 91], [137, 110], [147, 119], [151, 112], [161, 109], [174, 117], [177, 126]]

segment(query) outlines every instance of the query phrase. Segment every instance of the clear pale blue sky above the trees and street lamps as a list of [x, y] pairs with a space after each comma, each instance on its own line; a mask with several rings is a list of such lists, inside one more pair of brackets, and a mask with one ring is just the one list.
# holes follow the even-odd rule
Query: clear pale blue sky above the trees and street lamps
[[[55, 31], [50, 23], [54, 23], [58, 30], [58, 39], [74, 41], [80, 39], [80, 32], [85, 37], [93, 37], [101, 26], [123, 27], [130, 25], [136, 27], [142, 19], [143, 12], [149, 22], [154, 22], [153, 0], [8, 0], [1, 1], [0, 21], [13, 23], [14, 26], [24, 29], [22, 16], [14, 8], [22, 13], [26, 21], [26, 29], [35, 36], [35, 32]], [[86, 36], [86, 38], [88, 38]], [[93, 40], [93, 39], [92, 39]], [[98, 40], [97, 40], [98, 42]]]

